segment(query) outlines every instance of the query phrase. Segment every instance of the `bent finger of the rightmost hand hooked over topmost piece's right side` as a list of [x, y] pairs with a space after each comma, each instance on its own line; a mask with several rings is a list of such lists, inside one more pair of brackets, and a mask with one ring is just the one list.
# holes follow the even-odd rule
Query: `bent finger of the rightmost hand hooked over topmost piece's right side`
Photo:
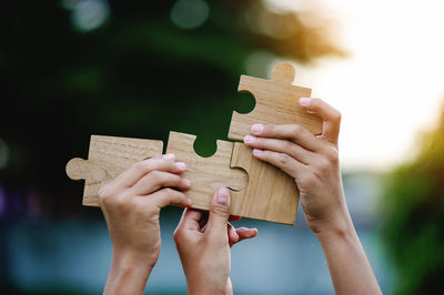
[[315, 112], [324, 120], [321, 138], [332, 143], [337, 143], [341, 128], [341, 113], [320, 99], [301, 98], [299, 103], [302, 108]]

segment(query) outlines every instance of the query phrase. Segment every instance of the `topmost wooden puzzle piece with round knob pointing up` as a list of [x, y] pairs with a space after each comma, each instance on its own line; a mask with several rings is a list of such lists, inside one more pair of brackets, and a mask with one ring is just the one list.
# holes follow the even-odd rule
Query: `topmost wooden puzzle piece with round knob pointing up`
[[256, 105], [248, 114], [233, 112], [229, 139], [243, 140], [254, 123], [300, 124], [314, 134], [321, 134], [321, 118], [307, 113], [299, 105], [300, 98], [310, 98], [311, 89], [292, 85], [294, 68], [290, 63], [276, 64], [272, 80], [241, 75], [239, 92], [251, 92]]

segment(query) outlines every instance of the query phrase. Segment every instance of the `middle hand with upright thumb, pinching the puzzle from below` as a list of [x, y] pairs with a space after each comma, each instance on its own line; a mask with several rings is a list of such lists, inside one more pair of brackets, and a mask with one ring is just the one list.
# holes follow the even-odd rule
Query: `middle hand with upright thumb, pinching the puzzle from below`
[[256, 236], [258, 230], [235, 230], [229, 220], [230, 192], [225, 187], [214, 194], [209, 216], [202, 211], [184, 210], [174, 241], [189, 294], [232, 294], [230, 247]]

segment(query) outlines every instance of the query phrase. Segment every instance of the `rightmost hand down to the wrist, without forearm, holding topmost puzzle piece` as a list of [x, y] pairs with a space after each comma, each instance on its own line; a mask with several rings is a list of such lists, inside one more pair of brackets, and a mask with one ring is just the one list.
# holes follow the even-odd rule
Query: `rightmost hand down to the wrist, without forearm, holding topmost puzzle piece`
[[341, 114], [319, 99], [301, 99], [300, 104], [324, 120], [320, 136], [296, 124], [255, 124], [244, 142], [255, 157], [294, 177], [305, 218], [315, 233], [345, 230], [350, 221], [337, 153]]

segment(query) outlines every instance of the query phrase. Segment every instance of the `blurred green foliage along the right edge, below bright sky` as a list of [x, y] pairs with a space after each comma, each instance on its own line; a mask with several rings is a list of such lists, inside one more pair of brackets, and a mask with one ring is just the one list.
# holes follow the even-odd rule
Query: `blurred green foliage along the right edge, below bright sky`
[[444, 278], [444, 111], [420, 150], [386, 179], [383, 237], [397, 273], [395, 294], [442, 294]]

